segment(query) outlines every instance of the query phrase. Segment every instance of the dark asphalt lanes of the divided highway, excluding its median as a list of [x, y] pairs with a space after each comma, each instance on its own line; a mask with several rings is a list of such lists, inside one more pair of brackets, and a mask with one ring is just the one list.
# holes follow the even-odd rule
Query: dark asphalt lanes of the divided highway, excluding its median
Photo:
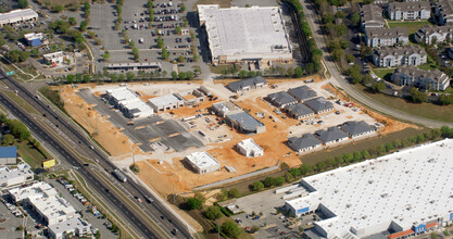
[[[3, 75], [4, 73], [2, 73]], [[3, 75], [4, 76], [4, 75]], [[80, 152], [80, 154], [87, 156], [88, 159], [98, 160], [100, 166], [103, 168], [109, 169], [110, 172], [116, 169], [116, 167], [109, 161], [108, 156], [103, 154], [103, 152], [99, 151], [97, 148], [91, 150], [91, 142], [87, 139], [87, 136], [83, 135], [75, 126], [72, 125], [64, 116], [62, 116], [58, 111], [54, 111], [52, 106], [47, 105], [47, 103], [42, 103], [39, 99], [35, 98], [34, 93], [27, 91], [23, 86], [18, 85], [15, 80], [11, 78], [3, 77], [2, 80], [10, 89], [17, 90], [18, 96], [24, 98], [28, 103], [32, 104], [37, 111], [42, 112], [46, 114], [46, 117], [52, 122], [64, 135], [68, 136], [72, 143], [78, 143], [75, 149]], [[74, 166], [81, 167], [84, 162], [78, 160], [78, 156], [73, 153], [73, 151], [68, 150], [62, 142], [54, 138], [52, 134], [49, 134], [47, 129], [42, 128], [40, 125], [36, 123], [36, 116], [32, 117], [27, 115], [22, 109], [14, 105], [8, 98], [3, 95], [0, 95], [0, 102], [10, 110], [12, 114], [14, 114], [18, 120], [21, 120], [24, 124], [28, 126], [28, 128], [42, 141], [45, 141], [48, 146], [50, 146], [53, 151], [59, 152], [62, 158], [68, 163]], [[66, 140], [65, 140], [66, 141]], [[66, 141], [66, 142], [67, 142]], [[88, 184], [97, 191], [101, 197], [106, 199], [111, 202], [113, 206], [116, 207], [117, 212], [122, 212], [123, 216], [125, 216], [130, 225], [136, 227], [139, 231], [141, 231], [142, 237], [146, 238], [156, 238], [155, 236], [155, 228], [153, 229], [151, 226], [151, 222], [148, 218], [143, 218], [140, 213], [136, 212], [136, 207], [129, 205], [127, 202], [124, 202], [121, 197], [115, 193], [112, 193], [114, 190], [109, 190], [110, 193], [105, 190], [110, 186], [105, 186], [102, 183], [102, 179], [99, 178], [98, 175], [93, 174], [91, 171], [84, 171], [80, 169], [79, 173], [84, 176], [84, 178], [88, 181]], [[122, 184], [124, 192], [130, 193], [134, 196], [150, 196], [146, 189], [141, 186], [135, 184], [133, 180], [128, 180], [127, 183]], [[154, 196], [150, 196], [151, 198], [156, 198]], [[143, 198], [144, 200], [144, 198]], [[140, 204], [139, 205], [143, 211], [147, 212], [148, 216], [158, 217], [160, 215], [164, 215], [167, 218], [164, 222], [158, 222], [158, 224], [163, 230], [166, 231], [166, 236], [169, 235], [169, 231], [173, 228], [177, 228], [179, 230], [179, 238], [190, 238], [190, 234], [188, 232], [188, 228], [180, 222], [168, 209], [166, 209], [160, 200], [154, 200], [152, 204]], [[153, 218], [153, 221], [156, 221]], [[172, 222], [169, 222], [172, 221]], [[154, 224], [154, 225], [155, 225]]]

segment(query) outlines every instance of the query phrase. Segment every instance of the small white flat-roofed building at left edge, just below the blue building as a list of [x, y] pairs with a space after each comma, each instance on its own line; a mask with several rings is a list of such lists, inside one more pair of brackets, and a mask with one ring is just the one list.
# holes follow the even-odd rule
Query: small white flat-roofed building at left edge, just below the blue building
[[0, 167], [0, 189], [33, 180], [34, 175], [26, 163], [18, 164], [15, 168]]

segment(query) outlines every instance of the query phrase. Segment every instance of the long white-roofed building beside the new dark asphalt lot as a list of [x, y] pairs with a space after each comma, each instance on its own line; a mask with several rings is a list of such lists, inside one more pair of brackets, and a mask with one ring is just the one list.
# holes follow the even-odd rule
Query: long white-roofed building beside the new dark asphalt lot
[[131, 118], [148, 117], [154, 110], [126, 87], [106, 90], [109, 100]]

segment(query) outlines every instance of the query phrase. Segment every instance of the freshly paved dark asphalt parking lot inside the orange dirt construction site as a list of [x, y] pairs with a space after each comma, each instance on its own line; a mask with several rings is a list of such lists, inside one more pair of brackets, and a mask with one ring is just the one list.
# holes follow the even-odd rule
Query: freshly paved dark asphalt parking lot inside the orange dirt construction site
[[95, 109], [117, 128], [124, 128], [123, 133], [144, 152], [156, 150], [171, 150], [181, 152], [192, 147], [203, 147], [203, 142], [174, 120], [164, 120], [159, 115], [135, 121], [128, 124], [119, 111], [105, 103], [88, 89], [81, 89], [78, 93], [86, 102], [96, 104]]

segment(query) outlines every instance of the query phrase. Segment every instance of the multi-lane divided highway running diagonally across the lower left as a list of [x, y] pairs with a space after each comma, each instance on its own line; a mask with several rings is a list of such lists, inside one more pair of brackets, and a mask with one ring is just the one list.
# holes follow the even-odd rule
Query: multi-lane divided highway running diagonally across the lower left
[[[139, 197], [143, 201], [142, 203], [135, 200], [136, 206], [130, 204], [130, 201], [122, 198], [111, 185], [103, 181], [103, 179], [95, 173], [91, 167], [84, 167], [84, 163], [79, 156], [74, 153], [77, 151], [79, 155], [84, 155], [87, 159], [99, 162], [99, 165], [108, 172], [118, 169], [113, 165], [109, 158], [96, 147], [91, 148], [91, 142], [88, 140], [88, 136], [85, 133], [80, 133], [79, 129], [68, 122], [64, 115], [61, 115], [59, 111], [53, 109], [53, 105], [48, 105], [47, 102], [41, 101], [35, 93], [28, 91], [24, 86], [15, 81], [14, 79], [0, 72], [2, 78], [0, 79], [9, 89], [17, 92], [17, 96], [23, 98], [27, 103], [35, 108], [41, 115], [33, 116], [26, 113], [21, 106], [17, 106], [12, 100], [10, 100], [2, 91], [0, 92], [0, 102], [23, 122], [35, 136], [37, 136], [42, 143], [47, 147], [51, 147], [54, 152], [58, 152], [62, 158], [61, 161], [68, 163], [74, 168], [79, 168], [77, 172], [81, 174], [87, 184], [95, 192], [101, 196], [103, 199], [109, 200], [110, 203], [115, 206], [117, 213], [127, 218], [136, 231], [140, 232], [141, 238], [191, 238], [188, 227], [179, 221], [165, 205], [162, 204], [153, 194], [149, 193], [141, 185], [138, 185], [128, 178], [126, 183], [117, 183], [112, 178], [112, 183], [121, 185], [118, 191], [129, 196], [133, 200], [134, 197]], [[53, 125], [49, 127], [41, 127], [37, 117], [42, 117]], [[48, 128], [58, 128], [58, 131], [50, 133]], [[55, 135], [64, 135], [67, 140], [65, 143], [61, 142]], [[72, 149], [70, 149], [70, 147]], [[144, 197], [150, 197], [154, 200], [152, 203], [146, 203]], [[138, 210], [140, 207], [141, 212]], [[160, 229], [161, 228], [161, 229]], [[176, 236], [172, 235], [173, 229], [177, 229]]]

